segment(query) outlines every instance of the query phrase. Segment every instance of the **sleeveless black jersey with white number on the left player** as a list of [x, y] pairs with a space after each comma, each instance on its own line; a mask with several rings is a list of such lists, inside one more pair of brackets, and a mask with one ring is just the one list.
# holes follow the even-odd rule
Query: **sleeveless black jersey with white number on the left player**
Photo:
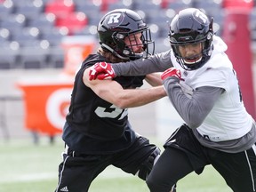
[[[106, 60], [99, 54], [91, 54], [77, 72], [63, 130], [62, 138], [68, 147], [81, 153], [116, 152], [131, 146], [135, 137], [128, 122], [127, 109], [116, 108], [84, 85], [84, 70], [100, 61]], [[126, 89], [140, 87], [144, 77], [117, 76], [113, 80]]]

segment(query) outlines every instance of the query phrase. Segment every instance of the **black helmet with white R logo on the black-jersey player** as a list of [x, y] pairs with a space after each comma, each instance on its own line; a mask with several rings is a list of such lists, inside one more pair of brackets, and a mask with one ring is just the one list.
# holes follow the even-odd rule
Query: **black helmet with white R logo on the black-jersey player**
[[[124, 44], [124, 37], [141, 33], [141, 42], [144, 52], [135, 53]], [[146, 23], [140, 15], [129, 9], [116, 9], [102, 17], [98, 26], [100, 45], [104, 50], [112, 52], [122, 60], [137, 60], [147, 58], [154, 54], [155, 43], [151, 40], [151, 34]], [[151, 51], [148, 51], [151, 44]]]

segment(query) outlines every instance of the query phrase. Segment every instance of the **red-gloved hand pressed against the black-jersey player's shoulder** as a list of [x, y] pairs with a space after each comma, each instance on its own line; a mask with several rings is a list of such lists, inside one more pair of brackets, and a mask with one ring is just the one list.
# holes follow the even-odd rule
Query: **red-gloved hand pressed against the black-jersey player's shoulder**
[[90, 81], [95, 80], [96, 78], [103, 80], [112, 79], [114, 77], [116, 77], [115, 71], [107, 62], [95, 63], [89, 71]]

